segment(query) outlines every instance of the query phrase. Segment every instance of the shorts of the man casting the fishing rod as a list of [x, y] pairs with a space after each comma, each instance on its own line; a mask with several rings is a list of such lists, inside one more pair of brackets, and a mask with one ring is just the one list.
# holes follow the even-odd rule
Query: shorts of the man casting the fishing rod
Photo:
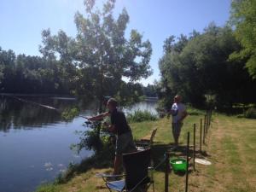
[[133, 142], [131, 131], [119, 135], [116, 139], [115, 154], [122, 155], [137, 151], [137, 148]]

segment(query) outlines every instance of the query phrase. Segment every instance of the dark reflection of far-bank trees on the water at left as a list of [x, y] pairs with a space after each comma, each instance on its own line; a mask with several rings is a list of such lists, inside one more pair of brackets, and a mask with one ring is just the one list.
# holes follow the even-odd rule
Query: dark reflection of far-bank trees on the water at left
[[[65, 108], [75, 106], [75, 101], [38, 97], [24, 99], [53, 106], [54, 108], [59, 108], [61, 111]], [[60, 120], [61, 113], [57, 113], [55, 110], [20, 102], [9, 96], [0, 96], [0, 131], [8, 131], [11, 127], [14, 129], [22, 129], [24, 126], [49, 125]]]

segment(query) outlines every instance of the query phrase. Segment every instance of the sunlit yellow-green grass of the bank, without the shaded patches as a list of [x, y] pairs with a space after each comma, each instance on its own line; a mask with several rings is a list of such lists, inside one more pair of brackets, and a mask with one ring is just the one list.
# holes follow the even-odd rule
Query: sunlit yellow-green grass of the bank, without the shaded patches
[[[187, 131], [193, 136], [193, 124], [196, 124], [196, 146], [199, 149], [199, 127], [203, 114], [189, 115], [184, 121], [180, 143], [186, 143]], [[164, 118], [156, 121], [132, 123], [131, 129], [136, 139], [149, 137], [157, 128], [153, 146], [154, 163], [162, 160], [164, 153], [172, 143], [171, 120]], [[190, 137], [190, 138], [191, 138]], [[192, 139], [190, 139], [192, 141]], [[213, 115], [212, 125], [203, 145], [204, 157], [212, 162], [211, 166], [196, 164], [195, 172], [189, 174], [189, 191], [222, 191], [242, 192], [256, 191], [256, 120]], [[172, 153], [182, 155], [182, 153]], [[201, 154], [197, 154], [201, 157]], [[93, 161], [93, 160], [90, 160]], [[80, 168], [78, 168], [80, 169]], [[112, 162], [97, 166], [95, 162], [87, 162], [84, 172], [73, 172], [73, 177], [66, 183], [43, 185], [38, 192], [70, 192], [100, 191], [107, 192], [101, 178], [95, 177], [96, 172], [112, 172]], [[155, 191], [164, 191], [165, 174], [163, 167], [154, 172]], [[169, 191], [184, 191], [185, 177], [171, 172]], [[149, 190], [151, 191], [151, 189]]]

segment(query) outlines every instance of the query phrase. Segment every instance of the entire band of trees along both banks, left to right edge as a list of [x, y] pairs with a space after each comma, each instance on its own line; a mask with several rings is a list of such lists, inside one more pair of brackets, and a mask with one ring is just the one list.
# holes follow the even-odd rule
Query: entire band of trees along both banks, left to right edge
[[175, 94], [195, 107], [256, 102], [255, 1], [232, 1], [232, 25], [211, 23], [204, 32], [166, 38], [161, 79], [147, 87], [137, 81], [152, 73], [151, 44], [137, 30], [125, 38], [129, 15], [123, 9], [115, 19], [114, 4], [108, 0], [99, 10], [95, 1], [84, 0], [85, 14], [74, 17], [76, 37], [44, 30], [41, 57], [0, 49], [0, 91], [74, 94], [99, 101], [114, 96], [121, 103], [159, 96], [165, 107]]

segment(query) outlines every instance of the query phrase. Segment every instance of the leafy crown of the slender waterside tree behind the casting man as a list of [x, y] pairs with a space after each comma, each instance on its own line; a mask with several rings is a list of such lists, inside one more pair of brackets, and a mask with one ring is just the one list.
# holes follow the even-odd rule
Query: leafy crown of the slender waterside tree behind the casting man
[[125, 38], [129, 15], [123, 9], [115, 20], [114, 4], [114, 0], [108, 0], [99, 10], [94, 0], [85, 0], [85, 16], [79, 12], [75, 15], [76, 38], [67, 37], [65, 32], [55, 36], [49, 30], [42, 33], [43, 55], [51, 59], [58, 53], [63, 63], [76, 65], [77, 92], [90, 90], [90, 95], [99, 101], [109, 93], [117, 94], [122, 78], [134, 82], [152, 73], [148, 65], [152, 53], [150, 42], [143, 42], [143, 36], [136, 30], [131, 30], [129, 39]]

